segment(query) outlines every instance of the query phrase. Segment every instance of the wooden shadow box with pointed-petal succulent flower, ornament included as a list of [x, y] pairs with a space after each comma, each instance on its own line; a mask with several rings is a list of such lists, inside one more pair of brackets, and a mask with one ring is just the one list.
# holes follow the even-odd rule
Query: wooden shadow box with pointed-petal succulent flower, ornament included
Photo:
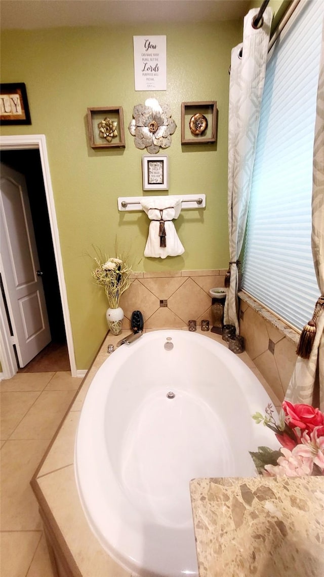
[[125, 148], [121, 106], [88, 108], [88, 129], [91, 148]]

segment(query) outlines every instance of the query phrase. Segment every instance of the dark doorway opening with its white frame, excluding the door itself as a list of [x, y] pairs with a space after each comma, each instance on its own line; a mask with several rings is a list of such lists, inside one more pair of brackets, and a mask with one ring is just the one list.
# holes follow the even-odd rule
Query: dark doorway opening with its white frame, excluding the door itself
[[[4, 140], [10, 141], [10, 145], [3, 145]], [[21, 140], [27, 140], [28, 145], [22, 146]], [[36, 355], [25, 368], [19, 368], [17, 362], [13, 362], [12, 365], [18, 367], [18, 372], [71, 370], [72, 376], [79, 376], [74, 360], [54, 199], [52, 198], [50, 175], [47, 166], [45, 137], [43, 135], [2, 137], [1, 149], [1, 162], [23, 174], [27, 183], [28, 200], [31, 207], [40, 268], [43, 273], [42, 280], [51, 331], [50, 344]], [[9, 327], [10, 331], [10, 316], [7, 327]], [[1, 332], [3, 339], [3, 330]], [[8, 336], [7, 334], [5, 336], [7, 337], [7, 342], [10, 342], [10, 335]], [[13, 356], [13, 354], [9, 351], [9, 356]], [[9, 376], [5, 376], [4, 371], [3, 376], [10, 378], [16, 370], [9, 371], [11, 373]]]

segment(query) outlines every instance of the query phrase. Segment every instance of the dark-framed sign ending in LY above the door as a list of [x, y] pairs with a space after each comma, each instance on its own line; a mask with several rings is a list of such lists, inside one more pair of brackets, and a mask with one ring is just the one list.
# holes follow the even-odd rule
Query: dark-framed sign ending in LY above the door
[[31, 124], [26, 85], [0, 84], [0, 124]]

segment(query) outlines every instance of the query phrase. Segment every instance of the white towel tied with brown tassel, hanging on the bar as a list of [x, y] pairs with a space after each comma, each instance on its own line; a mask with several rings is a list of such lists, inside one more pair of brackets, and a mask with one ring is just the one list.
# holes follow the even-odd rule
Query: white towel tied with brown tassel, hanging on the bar
[[174, 196], [151, 196], [140, 200], [151, 220], [144, 256], [165, 258], [184, 253], [173, 219], [178, 218], [182, 203]]

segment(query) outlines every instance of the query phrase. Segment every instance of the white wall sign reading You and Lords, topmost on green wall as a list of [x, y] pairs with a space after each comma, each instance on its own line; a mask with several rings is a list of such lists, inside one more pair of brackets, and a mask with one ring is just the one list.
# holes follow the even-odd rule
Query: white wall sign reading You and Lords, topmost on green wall
[[133, 36], [135, 90], [167, 89], [167, 36]]

